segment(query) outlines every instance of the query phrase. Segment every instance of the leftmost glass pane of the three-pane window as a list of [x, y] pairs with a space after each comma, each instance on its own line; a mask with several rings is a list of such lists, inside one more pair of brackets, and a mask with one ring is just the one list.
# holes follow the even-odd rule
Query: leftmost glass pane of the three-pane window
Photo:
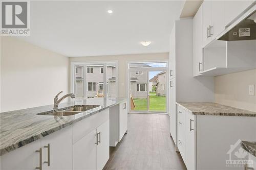
[[83, 97], [83, 66], [75, 66], [75, 95], [76, 98]]

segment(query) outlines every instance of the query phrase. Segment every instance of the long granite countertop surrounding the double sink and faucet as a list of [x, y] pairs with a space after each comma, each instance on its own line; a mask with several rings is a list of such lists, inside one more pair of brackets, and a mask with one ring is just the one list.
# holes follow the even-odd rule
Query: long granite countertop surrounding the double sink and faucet
[[37, 115], [37, 113], [51, 112], [53, 105], [0, 113], [0, 155], [11, 152], [125, 100], [124, 98], [92, 98], [76, 99], [72, 102], [59, 104], [58, 108], [60, 110], [71, 108], [74, 105], [99, 105], [94, 109], [71, 116]]

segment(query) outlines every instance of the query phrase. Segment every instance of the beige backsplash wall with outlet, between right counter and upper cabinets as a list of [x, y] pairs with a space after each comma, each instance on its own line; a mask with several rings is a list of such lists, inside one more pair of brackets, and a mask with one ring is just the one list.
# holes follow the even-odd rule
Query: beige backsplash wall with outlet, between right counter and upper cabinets
[[256, 88], [256, 69], [215, 77], [215, 102], [256, 112], [256, 94], [249, 95], [249, 85]]

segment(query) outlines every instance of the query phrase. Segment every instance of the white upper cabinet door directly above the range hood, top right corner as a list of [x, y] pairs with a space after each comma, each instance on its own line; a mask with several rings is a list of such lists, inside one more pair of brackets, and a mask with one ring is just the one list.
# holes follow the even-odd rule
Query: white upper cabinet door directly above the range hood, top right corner
[[225, 1], [225, 26], [230, 25], [232, 20], [239, 16], [251, 3], [250, 0]]

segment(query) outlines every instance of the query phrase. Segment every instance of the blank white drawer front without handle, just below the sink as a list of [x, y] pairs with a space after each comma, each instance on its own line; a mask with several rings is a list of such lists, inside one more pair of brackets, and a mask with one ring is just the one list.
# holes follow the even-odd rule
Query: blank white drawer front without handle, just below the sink
[[98, 126], [109, 119], [109, 109], [105, 109], [95, 115], [85, 118], [73, 125], [73, 143], [89, 134]]

